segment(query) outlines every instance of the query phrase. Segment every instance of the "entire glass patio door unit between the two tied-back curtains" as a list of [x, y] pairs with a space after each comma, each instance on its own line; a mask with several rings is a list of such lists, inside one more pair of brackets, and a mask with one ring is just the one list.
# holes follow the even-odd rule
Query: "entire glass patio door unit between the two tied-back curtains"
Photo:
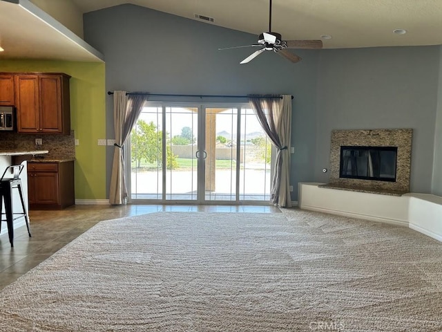
[[269, 201], [271, 145], [248, 105], [150, 103], [128, 145], [129, 201]]

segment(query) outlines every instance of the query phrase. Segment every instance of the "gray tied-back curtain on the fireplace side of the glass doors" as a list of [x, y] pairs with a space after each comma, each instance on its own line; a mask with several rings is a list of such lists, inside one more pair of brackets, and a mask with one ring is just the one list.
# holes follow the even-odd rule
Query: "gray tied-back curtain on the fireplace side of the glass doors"
[[249, 100], [262, 129], [277, 149], [270, 188], [271, 202], [289, 208], [291, 95], [280, 97], [251, 95]]

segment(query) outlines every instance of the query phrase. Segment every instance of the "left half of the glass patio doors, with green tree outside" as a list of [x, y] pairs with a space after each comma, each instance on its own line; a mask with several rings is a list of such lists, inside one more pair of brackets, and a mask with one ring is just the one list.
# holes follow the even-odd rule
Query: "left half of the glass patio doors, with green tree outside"
[[144, 107], [130, 151], [131, 201], [197, 201], [197, 107]]

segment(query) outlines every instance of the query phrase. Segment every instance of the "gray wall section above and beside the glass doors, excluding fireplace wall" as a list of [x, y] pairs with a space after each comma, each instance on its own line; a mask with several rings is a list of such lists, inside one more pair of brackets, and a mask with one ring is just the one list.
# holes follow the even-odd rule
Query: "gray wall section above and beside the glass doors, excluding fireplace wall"
[[[262, 28], [266, 28], [265, 24]], [[292, 144], [297, 151], [302, 151], [302, 158], [292, 158], [292, 183], [313, 179], [310, 165], [314, 154], [307, 154], [307, 151], [315, 148], [318, 50], [299, 50], [297, 54], [303, 60], [298, 64], [265, 52], [253, 62], [240, 65], [239, 62], [255, 48], [223, 51], [218, 48], [254, 44], [256, 35], [134, 5], [87, 13], [84, 15], [84, 35], [86, 42], [105, 55], [108, 91], [294, 95]], [[113, 138], [111, 97], [107, 101], [106, 131], [108, 138]], [[108, 183], [112, 158], [113, 149], [108, 148]], [[292, 199], [296, 199], [296, 194]]]

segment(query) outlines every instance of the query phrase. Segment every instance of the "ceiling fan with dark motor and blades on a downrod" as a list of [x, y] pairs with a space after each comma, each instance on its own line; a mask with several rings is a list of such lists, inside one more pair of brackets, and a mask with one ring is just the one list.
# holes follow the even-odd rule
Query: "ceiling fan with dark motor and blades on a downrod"
[[246, 57], [240, 64], [247, 64], [252, 59], [258, 57], [265, 50], [273, 50], [273, 52], [282, 55], [291, 62], [299, 62], [301, 60], [298, 55], [289, 52], [287, 48], [309, 48], [318, 49], [323, 48], [323, 42], [321, 40], [309, 39], [309, 40], [282, 40], [280, 33], [271, 32], [271, 0], [270, 0], [270, 10], [269, 10], [269, 32], [261, 33], [258, 35], [258, 44], [244, 45], [244, 46], [233, 46], [227, 48], [218, 48], [218, 50], [231, 50], [232, 48], [242, 48], [242, 47], [261, 47], [256, 52]]

